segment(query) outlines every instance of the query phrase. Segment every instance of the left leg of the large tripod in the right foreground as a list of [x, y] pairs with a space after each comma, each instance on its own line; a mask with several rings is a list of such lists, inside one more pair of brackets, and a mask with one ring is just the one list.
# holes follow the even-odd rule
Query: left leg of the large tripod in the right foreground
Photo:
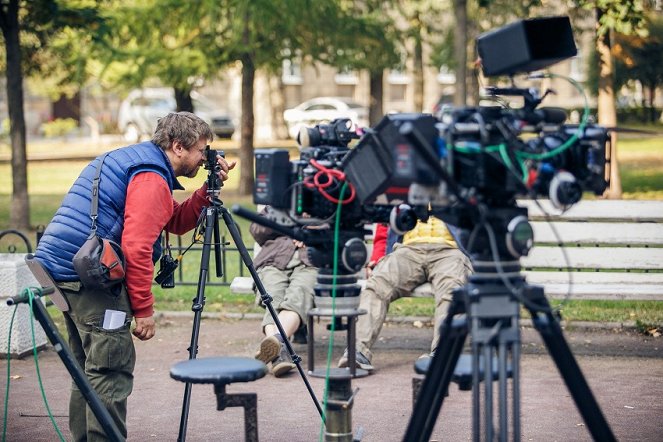
[[456, 363], [460, 357], [467, 337], [465, 319], [455, 320], [460, 312], [462, 301], [454, 293], [449, 312], [440, 325], [440, 344], [435, 351], [428, 372], [424, 377], [419, 398], [412, 410], [403, 440], [427, 442], [433, 432], [435, 421], [442, 408], [444, 394], [449, 390], [449, 383]]

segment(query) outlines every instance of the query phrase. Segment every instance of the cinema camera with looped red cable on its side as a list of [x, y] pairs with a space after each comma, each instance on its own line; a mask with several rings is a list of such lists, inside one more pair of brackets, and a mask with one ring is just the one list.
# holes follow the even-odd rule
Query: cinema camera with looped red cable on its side
[[[302, 129], [298, 160], [290, 161], [285, 149], [256, 150], [253, 199], [267, 206], [266, 217], [233, 209], [309, 246], [311, 262], [320, 269], [316, 296], [322, 308], [331, 308], [333, 286], [338, 288], [337, 308], [357, 306], [359, 286], [355, 274], [367, 259], [364, 224], [388, 221], [393, 209], [387, 205], [363, 206], [354, 188], [344, 186], [342, 161], [350, 151], [348, 144], [357, 138], [359, 134], [350, 120], [340, 118]], [[334, 274], [338, 275], [335, 284]]]

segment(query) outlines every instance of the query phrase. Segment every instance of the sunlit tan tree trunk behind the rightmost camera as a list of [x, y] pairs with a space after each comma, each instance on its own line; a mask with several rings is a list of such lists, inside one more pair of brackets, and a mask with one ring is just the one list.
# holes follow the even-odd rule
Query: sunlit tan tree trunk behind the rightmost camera
[[[597, 26], [602, 11], [596, 10]], [[599, 124], [607, 127], [617, 126], [617, 109], [615, 107], [615, 91], [613, 88], [613, 63], [610, 52], [610, 34], [599, 35], [596, 39], [596, 52], [599, 56], [599, 95], [598, 95], [598, 117]], [[622, 197], [622, 182], [619, 176], [619, 163], [617, 162], [617, 133], [611, 132], [610, 152], [606, 152], [610, 160], [610, 168], [607, 171], [610, 178], [610, 187], [605, 191], [604, 197], [608, 199], [620, 199]]]

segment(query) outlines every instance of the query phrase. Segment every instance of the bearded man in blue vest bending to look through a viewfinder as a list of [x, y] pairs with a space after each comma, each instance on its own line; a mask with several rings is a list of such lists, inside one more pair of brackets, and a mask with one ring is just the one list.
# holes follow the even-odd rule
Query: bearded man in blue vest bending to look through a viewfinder
[[[37, 260], [70, 305], [64, 313], [69, 346], [124, 437], [136, 361], [131, 334], [145, 341], [156, 329], [151, 283], [154, 263], [161, 255], [161, 232], [183, 234], [191, 230], [209, 204], [207, 184], [181, 204], [173, 199], [173, 190], [183, 189], [177, 177], [196, 176], [213, 138], [209, 125], [196, 115], [170, 113], [159, 119], [151, 141], [111, 151], [104, 158], [97, 234], [121, 245], [126, 258], [123, 283], [109, 290], [91, 290], [82, 286], [72, 263], [90, 232], [90, 183], [100, 158], [83, 169], [37, 247]], [[235, 162], [221, 157], [217, 162], [220, 179], [227, 180]], [[123, 312], [123, 325], [104, 329], [107, 310]], [[132, 319], [136, 322], [133, 332]], [[69, 402], [69, 427], [74, 441], [106, 440], [103, 427], [75, 384]]]

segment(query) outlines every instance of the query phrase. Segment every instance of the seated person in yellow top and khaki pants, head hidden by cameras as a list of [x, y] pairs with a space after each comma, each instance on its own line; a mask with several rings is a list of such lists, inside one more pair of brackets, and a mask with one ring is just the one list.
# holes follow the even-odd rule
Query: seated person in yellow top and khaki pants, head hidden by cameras
[[[451, 292], [465, 284], [472, 272], [470, 259], [458, 247], [447, 225], [438, 218], [417, 221], [414, 229], [399, 235], [379, 224], [373, 240], [373, 253], [367, 269], [369, 277], [360, 295], [359, 308], [368, 313], [357, 320], [358, 368], [371, 371], [371, 348], [387, 317], [389, 304], [411, 296], [419, 285], [430, 282], [435, 295], [435, 325], [431, 353], [440, 340], [439, 326], [446, 316]], [[348, 366], [347, 349], [338, 362]]]

